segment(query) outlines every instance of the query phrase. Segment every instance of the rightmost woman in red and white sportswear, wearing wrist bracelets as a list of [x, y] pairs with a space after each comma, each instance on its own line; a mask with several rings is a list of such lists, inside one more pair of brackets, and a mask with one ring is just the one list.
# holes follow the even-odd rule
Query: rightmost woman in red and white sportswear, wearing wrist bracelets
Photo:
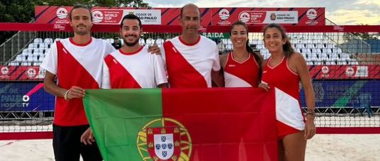
[[[298, 52], [294, 52], [294, 49], [291, 48], [291, 43], [284, 32], [284, 28], [272, 23], [264, 28], [263, 33], [264, 45], [271, 53], [271, 57], [262, 63], [262, 82], [259, 87], [266, 90], [276, 88], [284, 91], [289, 95], [289, 99], [298, 101], [297, 105], [299, 105], [299, 82], [301, 81], [308, 107], [306, 123], [302, 113], [298, 111], [298, 109], [301, 110], [301, 106], [284, 105], [276, 107], [279, 160], [304, 160], [306, 140], [315, 135], [315, 94], [308, 66], [303, 56]], [[298, 111], [295, 114], [301, 116], [294, 116], [289, 111]], [[287, 118], [301, 118], [298, 119], [301, 126], [289, 126], [290, 124], [286, 123]]]

